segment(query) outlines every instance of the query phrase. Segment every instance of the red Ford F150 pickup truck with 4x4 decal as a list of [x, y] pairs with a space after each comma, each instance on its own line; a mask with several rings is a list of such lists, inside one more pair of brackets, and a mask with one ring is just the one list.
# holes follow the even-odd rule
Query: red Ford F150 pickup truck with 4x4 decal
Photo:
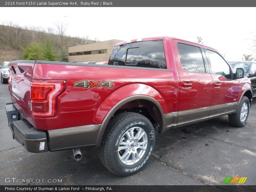
[[17, 60], [9, 63], [13, 138], [29, 152], [99, 147], [117, 175], [144, 167], [163, 133], [228, 115], [247, 122], [250, 80], [216, 50], [172, 37], [114, 46], [108, 65]]

